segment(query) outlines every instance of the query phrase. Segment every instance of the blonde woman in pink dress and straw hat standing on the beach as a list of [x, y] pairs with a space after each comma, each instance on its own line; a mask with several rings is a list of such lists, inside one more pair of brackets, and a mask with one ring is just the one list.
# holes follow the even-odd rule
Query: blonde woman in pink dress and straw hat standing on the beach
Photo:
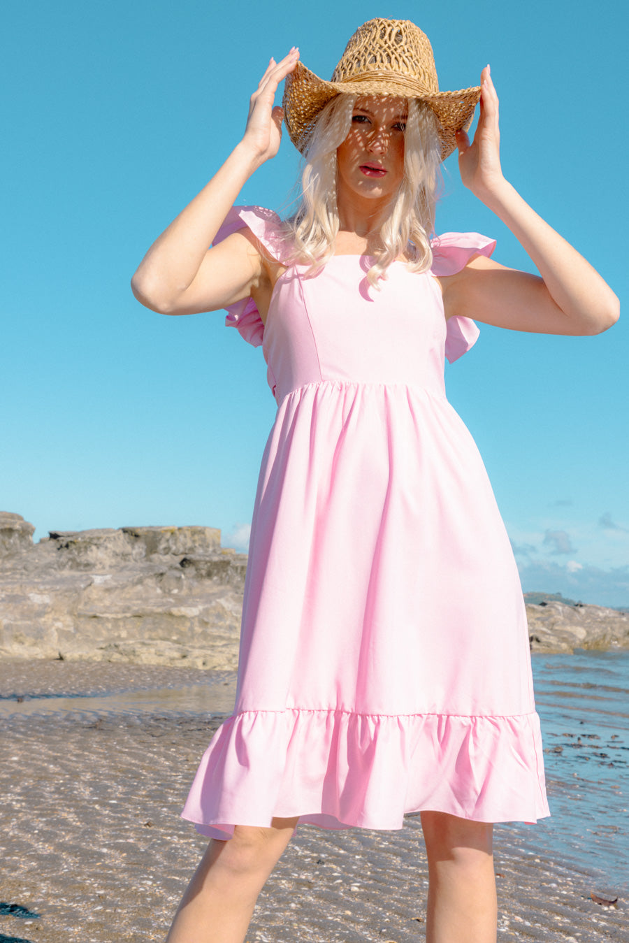
[[[233, 208], [283, 121], [306, 157], [284, 222]], [[493, 261], [475, 233], [431, 238], [455, 147], [538, 276]], [[272, 59], [242, 140], [133, 289], [165, 314], [227, 307], [262, 344], [278, 404], [237, 703], [184, 810], [211, 840], [168, 940], [242, 941], [300, 822], [397, 829], [405, 813], [422, 815], [427, 940], [495, 940], [491, 823], [548, 805], [518, 573], [444, 356], [472, 346], [474, 321], [596, 334], [618, 300], [505, 180], [489, 68], [479, 88], [439, 91], [427, 38], [390, 20], [357, 30], [331, 82], [296, 49]]]

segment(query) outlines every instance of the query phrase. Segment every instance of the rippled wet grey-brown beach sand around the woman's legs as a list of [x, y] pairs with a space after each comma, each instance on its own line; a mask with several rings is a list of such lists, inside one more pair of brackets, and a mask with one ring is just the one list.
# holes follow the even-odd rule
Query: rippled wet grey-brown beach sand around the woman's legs
[[[44, 696], [41, 713], [15, 713], [13, 701], [0, 720], [0, 901], [25, 908], [22, 916], [14, 908], [3, 915], [8, 908], [0, 906], [0, 943], [163, 940], [205, 847], [179, 811], [221, 717], [67, 705], [46, 714], [45, 703], [59, 694], [204, 681], [202, 671], [157, 666], [0, 666], [0, 697]], [[215, 679], [217, 697], [232, 681]], [[23, 704], [34, 706], [27, 697]], [[76, 699], [77, 708], [83, 704]], [[626, 890], [602, 884], [585, 860], [568, 864], [538, 853], [535, 827], [496, 829], [496, 873], [499, 940], [629, 941]], [[426, 887], [418, 818], [406, 819], [400, 832], [301, 827], [260, 897], [247, 940], [422, 940]], [[593, 902], [592, 891], [621, 896], [608, 907]]]

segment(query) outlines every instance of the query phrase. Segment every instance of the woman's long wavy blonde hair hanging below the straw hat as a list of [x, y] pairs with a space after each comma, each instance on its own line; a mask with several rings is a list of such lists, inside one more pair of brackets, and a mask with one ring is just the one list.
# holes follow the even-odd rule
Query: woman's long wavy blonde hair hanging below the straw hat
[[[356, 95], [337, 95], [322, 109], [306, 152], [302, 194], [297, 210], [284, 223], [293, 245], [290, 261], [310, 263], [318, 272], [334, 255], [339, 232], [337, 207], [337, 148], [352, 125]], [[405, 255], [411, 272], [426, 272], [432, 264], [430, 234], [441, 183], [438, 119], [417, 99], [407, 101], [405, 175], [390, 213], [380, 229], [383, 249], [367, 275], [378, 287], [396, 258]]]

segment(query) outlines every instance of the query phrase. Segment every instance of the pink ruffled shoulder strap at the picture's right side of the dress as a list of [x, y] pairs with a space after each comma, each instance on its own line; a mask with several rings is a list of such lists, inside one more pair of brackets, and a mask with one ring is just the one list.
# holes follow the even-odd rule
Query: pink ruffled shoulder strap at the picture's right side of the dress
[[[465, 268], [473, 256], [489, 257], [496, 240], [480, 233], [442, 233], [430, 243], [433, 250], [433, 275], [454, 275]], [[445, 339], [445, 356], [454, 363], [467, 354], [478, 339], [479, 330], [471, 318], [449, 318]]]

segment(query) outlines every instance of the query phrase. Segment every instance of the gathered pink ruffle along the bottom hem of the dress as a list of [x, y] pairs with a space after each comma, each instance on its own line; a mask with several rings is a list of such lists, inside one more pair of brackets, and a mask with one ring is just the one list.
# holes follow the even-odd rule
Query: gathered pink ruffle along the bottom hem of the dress
[[400, 829], [422, 810], [488, 822], [550, 815], [537, 713], [244, 711], [213, 737], [182, 818], [224, 839], [273, 817]]

